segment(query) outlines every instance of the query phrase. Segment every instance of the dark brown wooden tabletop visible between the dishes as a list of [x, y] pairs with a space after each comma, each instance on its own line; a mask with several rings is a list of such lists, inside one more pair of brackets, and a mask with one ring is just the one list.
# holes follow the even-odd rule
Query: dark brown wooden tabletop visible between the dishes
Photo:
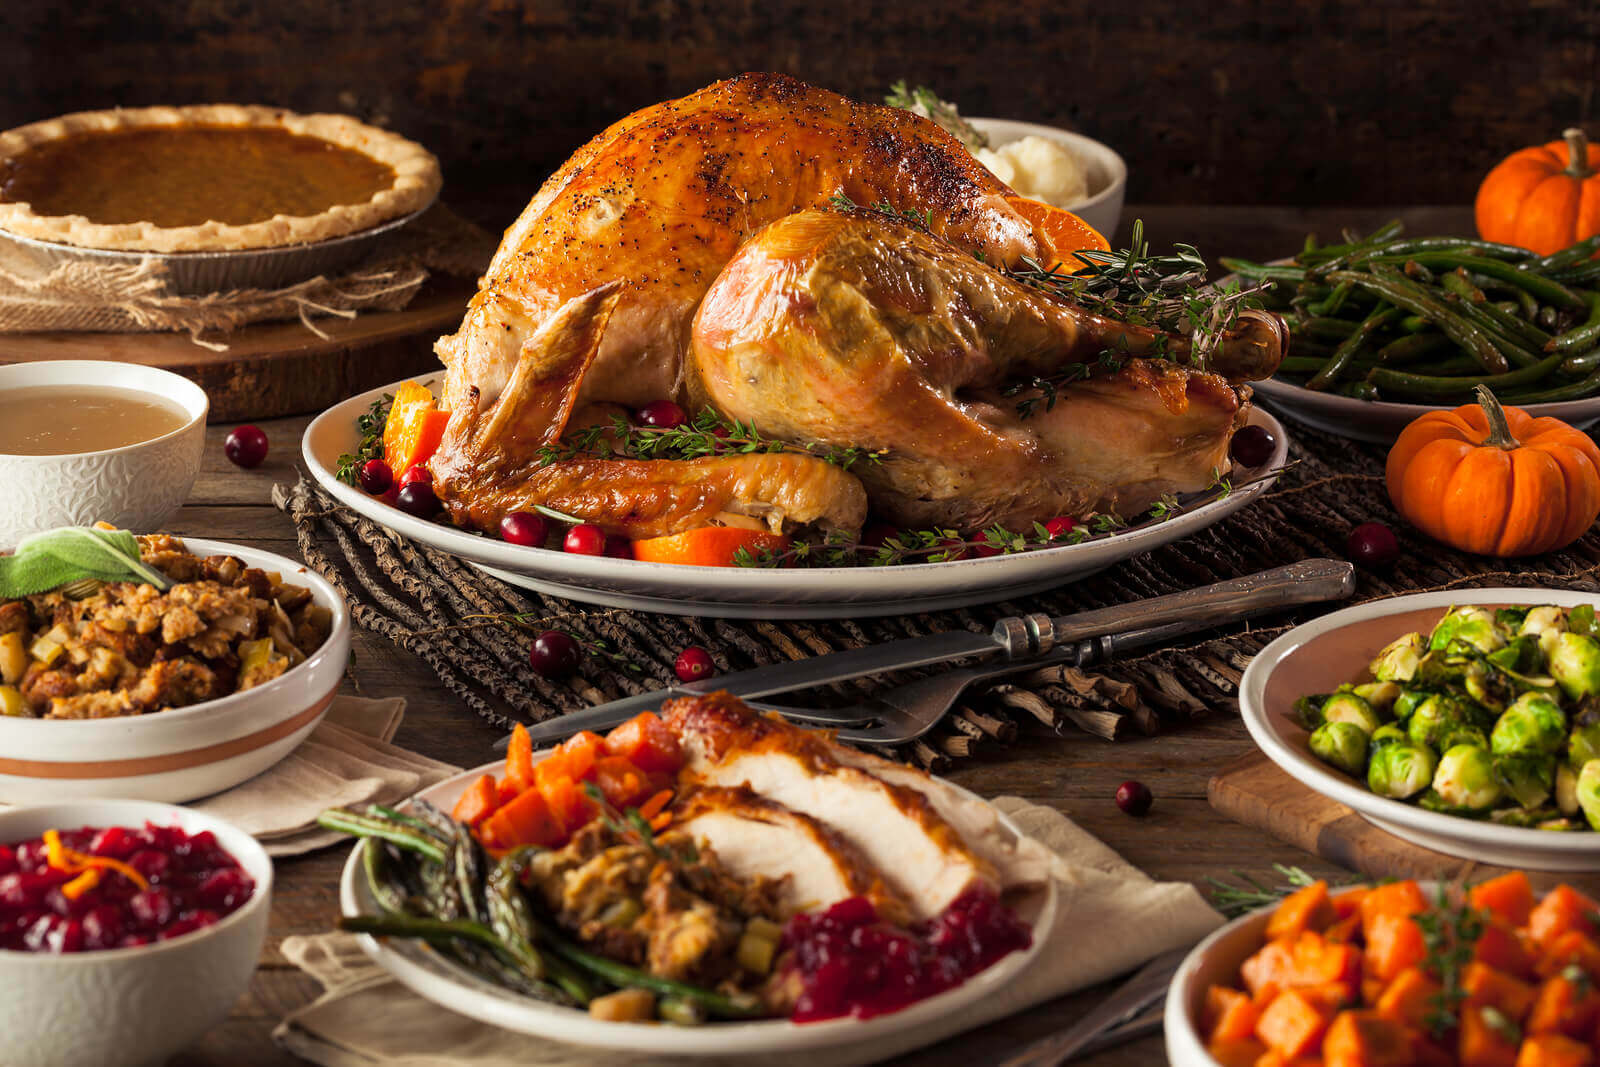
[[[1315, 229], [1325, 240], [1336, 240], [1339, 226], [1370, 230], [1395, 214], [1384, 210], [1131, 208], [1125, 213], [1122, 234], [1126, 234], [1130, 219], [1142, 216], [1157, 242], [1181, 237], [1213, 256], [1226, 250], [1270, 258], [1291, 253], [1307, 230]], [[1467, 232], [1470, 227], [1466, 208], [1419, 208], [1405, 214], [1410, 230], [1416, 234]], [[307, 422], [307, 418], [293, 418], [261, 424], [272, 450], [256, 470], [230, 466], [222, 456], [222, 437], [230, 427], [211, 427], [200, 480], [171, 530], [296, 557], [294, 530], [288, 517], [272, 507], [269, 493], [277, 482], [294, 482], [299, 440]], [[491, 745], [499, 731], [461, 707], [419, 661], [360, 629], [354, 635], [346, 691], [406, 696], [406, 718], [397, 744], [462, 766], [494, 758]], [[1275, 880], [1274, 862], [1299, 864], [1315, 873], [1341, 873], [1315, 856], [1219, 817], [1206, 805], [1206, 779], [1250, 749], [1238, 720], [1222, 715], [1173, 726], [1170, 733], [1154, 737], [1118, 742], [1077, 733], [1058, 737], [1038, 729], [998, 757], [968, 763], [950, 777], [981, 795], [1019, 793], [1059, 808], [1157, 878], [1197, 881], [1238, 869]], [[1112, 801], [1117, 785], [1126, 779], [1139, 779], [1155, 793], [1155, 806], [1142, 819], [1122, 814]], [[288, 1011], [314, 998], [318, 987], [283, 960], [278, 942], [290, 934], [331, 928], [334, 885], [346, 851], [331, 848], [278, 862], [270, 936], [250, 992], [235, 1005], [227, 1022], [173, 1059], [174, 1067], [301, 1062], [275, 1048], [269, 1035]], [[1070, 1024], [1107, 990], [1093, 989], [1042, 1005], [907, 1056], [902, 1062], [922, 1067], [998, 1062], [1029, 1040]], [[597, 1062], [603, 1062], [603, 1056], [597, 1054]], [[1082, 1062], [1099, 1067], [1163, 1064], [1165, 1053], [1157, 1035]]]

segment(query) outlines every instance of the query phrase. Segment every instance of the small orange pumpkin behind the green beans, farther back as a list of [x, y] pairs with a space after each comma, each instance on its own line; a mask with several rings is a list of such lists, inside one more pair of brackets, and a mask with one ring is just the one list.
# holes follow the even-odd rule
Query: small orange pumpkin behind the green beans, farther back
[[1478, 237], [1549, 256], [1600, 234], [1600, 146], [1582, 130], [1512, 152], [1478, 186]]

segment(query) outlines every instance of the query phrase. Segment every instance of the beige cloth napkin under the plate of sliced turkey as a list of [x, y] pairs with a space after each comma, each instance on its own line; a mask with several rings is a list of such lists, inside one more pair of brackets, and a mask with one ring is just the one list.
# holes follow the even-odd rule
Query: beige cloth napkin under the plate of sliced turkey
[[[995, 995], [910, 1033], [806, 1053], [806, 1067], [867, 1064], [1014, 1014], [1054, 997], [1131, 971], [1189, 945], [1222, 917], [1187, 883], [1155, 881], [1059, 811], [1019, 797], [994, 805], [1051, 851], [1059, 905], [1032, 965]], [[323, 1067], [611, 1067], [688, 1062], [603, 1053], [501, 1030], [411, 993], [371, 963], [349, 934], [288, 937], [283, 955], [323, 985], [323, 995], [272, 1032], [290, 1053]], [[696, 1057], [696, 1064], [763, 1057]], [[771, 1057], [765, 1057], [771, 1059]]]

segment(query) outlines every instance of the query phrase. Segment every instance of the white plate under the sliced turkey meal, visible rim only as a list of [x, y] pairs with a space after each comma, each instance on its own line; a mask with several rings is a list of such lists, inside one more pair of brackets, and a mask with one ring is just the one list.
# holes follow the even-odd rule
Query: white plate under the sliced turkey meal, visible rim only
[[[486, 763], [438, 782], [418, 793], [418, 798], [450, 811], [467, 785], [482, 774], [498, 774], [502, 769], [501, 763]], [[1008, 816], [1000, 814], [1000, 824], [1011, 833], [1022, 837]], [[362, 848], [365, 845], [350, 849], [350, 857], [339, 878], [339, 907], [344, 915], [378, 913], [378, 905], [371, 899], [366, 878], [362, 873]], [[1035, 931], [1048, 931], [1054, 923], [1056, 907], [1058, 893], [1051, 881], [1043, 891], [1026, 896], [1018, 907], [1018, 915]], [[829, 1019], [805, 1024], [787, 1019], [763, 1019], [758, 1022], [672, 1027], [654, 1022], [603, 1022], [590, 1017], [587, 1011], [522, 997], [472, 974], [422, 942], [378, 939], [366, 934], [360, 934], [358, 941], [362, 950], [374, 963], [419, 997], [456, 1014], [491, 1022], [517, 1033], [658, 1056], [752, 1056], [832, 1049], [835, 1056], [830, 1056], [829, 1062], [835, 1064], [867, 1062], [867, 1059], [893, 1054], [893, 1051], [915, 1048], [922, 1043], [917, 1038], [918, 1032], [936, 1027], [941, 1019], [966, 1005], [1002, 993], [1043, 949], [1043, 937], [1035, 936], [1034, 944], [1026, 950], [1000, 958], [962, 985], [872, 1019]], [[899, 1037], [899, 1045], [890, 1051], [888, 1045], [896, 1037]], [[862, 1046], [864, 1059], [850, 1057], [848, 1046]], [[870, 1056], [866, 1056], [869, 1046]]]

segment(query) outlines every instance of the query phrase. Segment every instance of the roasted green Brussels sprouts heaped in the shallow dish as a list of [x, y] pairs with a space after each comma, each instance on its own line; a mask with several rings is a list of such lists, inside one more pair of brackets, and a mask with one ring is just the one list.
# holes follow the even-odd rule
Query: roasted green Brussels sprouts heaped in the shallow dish
[[1600, 830], [1592, 605], [1451, 608], [1370, 680], [1294, 702], [1312, 755], [1379, 797], [1538, 830]]

